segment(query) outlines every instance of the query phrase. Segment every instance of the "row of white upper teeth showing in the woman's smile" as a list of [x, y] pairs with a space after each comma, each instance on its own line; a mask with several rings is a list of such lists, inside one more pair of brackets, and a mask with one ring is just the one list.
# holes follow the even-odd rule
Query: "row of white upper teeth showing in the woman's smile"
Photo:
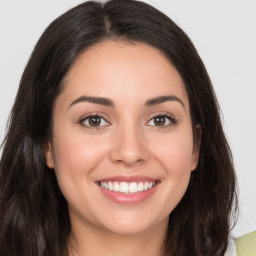
[[155, 186], [155, 182], [145, 181], [145, 182], [100, 182], [100, 186], [104, 189], [120, 192], [123, 194], [133, 194], [146, 191]]

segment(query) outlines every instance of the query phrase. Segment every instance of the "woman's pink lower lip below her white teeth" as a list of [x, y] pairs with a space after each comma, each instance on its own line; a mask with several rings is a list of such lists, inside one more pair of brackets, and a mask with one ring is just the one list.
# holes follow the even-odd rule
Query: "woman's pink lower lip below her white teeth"
[[147, 200], [149, 197], [151, 197], [154, 192], [156, 191], [159, 183], [155, 184], [154, 187], [152, 187], [149, 190], [139, 192], [139, 193], [134, 193], [134, 194], [122, 194], [120, 192], [116, 191], [110, 191], [108, 189], [102, 188], [99, 186], [101, 192], [111, 199], [112, 201], [119, 203], [119, 204], [138, 204], [141, 203], [145, 200]]

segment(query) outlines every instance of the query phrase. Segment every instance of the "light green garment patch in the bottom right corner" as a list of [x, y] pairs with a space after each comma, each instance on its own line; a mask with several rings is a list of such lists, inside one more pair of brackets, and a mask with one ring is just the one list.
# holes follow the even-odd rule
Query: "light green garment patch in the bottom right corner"
[[256, 231], [236, 239], [237, 256], [256, 256]]

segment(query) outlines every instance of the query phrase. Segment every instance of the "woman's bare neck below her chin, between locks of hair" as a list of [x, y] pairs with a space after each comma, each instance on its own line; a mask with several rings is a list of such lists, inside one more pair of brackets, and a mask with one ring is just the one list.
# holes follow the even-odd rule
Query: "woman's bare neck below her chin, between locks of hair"
[[72, 229], [69, 256], [164, 256], [167, 223], [136, 234], [117, 234], [86, 225]]

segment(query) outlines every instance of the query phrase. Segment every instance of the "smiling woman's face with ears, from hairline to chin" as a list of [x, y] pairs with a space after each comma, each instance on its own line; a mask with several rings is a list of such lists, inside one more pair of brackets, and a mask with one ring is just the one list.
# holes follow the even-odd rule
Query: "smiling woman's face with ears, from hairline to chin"
[[71, 227], [166, 227], [197, 165], [193, 141], [183, 81], [159, 50], [116, 41], [86, 50], [56, 99], [46, 146]]

